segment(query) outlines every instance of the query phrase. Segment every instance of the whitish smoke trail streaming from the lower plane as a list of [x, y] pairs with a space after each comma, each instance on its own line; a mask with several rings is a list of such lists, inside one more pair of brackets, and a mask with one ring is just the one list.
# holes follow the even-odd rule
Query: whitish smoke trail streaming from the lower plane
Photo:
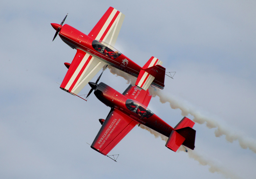
[[[153, 134], [155, 136], [155, 138], [160, 137], [164, 141], [168, 140], [168, 138], [166, 136], [164, 136], [163, 134], [160, 134], [159, 132], [156, 132], [156, 131], [150, 129], [149, 127], [147, 127], [145, 125], [140, 124], [140, 127], [142, 129], [149, 131], [151, 134]], [[180, 152], [180, 151], [185, 152], [185, 149], [183, 147], [180, 147], [178, 152]], [[190, 158], [193, 158], [194, 160], [198, 161], [203, 166], [208, 165], [209, 172], [211, 172], [211, 173], [216, 172], [216, 173], [224, 175], [224, 177], [226, 177], [226, 178], [240, 179], [240, 177], [236, 176], [231, 171], [227, 170], [225, 167], [221, 166], [220, 164], [217, 164], [217, 162], [215, 162], [215, 161], [212, 161], [210, 159], [203, 157], [202, 155], [198, 154], [194, 150], [188, 149], [188, 156]]]

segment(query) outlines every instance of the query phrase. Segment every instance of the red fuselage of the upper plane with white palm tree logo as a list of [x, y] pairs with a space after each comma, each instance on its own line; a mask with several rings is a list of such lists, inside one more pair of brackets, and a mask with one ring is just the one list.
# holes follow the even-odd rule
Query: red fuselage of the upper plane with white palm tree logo
[[[102, 60], [104, 63], [129, 73], [134, 77], [138, 77], [140, 70], [142, 69], [138, 64], [134, 63], [124, 54], [119, 53], [118, 57], [113, 58], [113, 56], [108, 57], [106, 54], [100, 53], [98, 49], [95, 50], [95, 47], [93, 48], [92, 45], [95, 42], [95, 39], [89, 37], [88, 35], [80, 32], [68, 24], [65, 24], [61, 27], [59, 36], [71, 48], [81, 49], [94, 57], [98, 57], [98, 59], [100, 58], [100, 60]], [[109, 47], [110, 45], [106, 46]], [[106, 49], [108, 47], [106, 47]]]

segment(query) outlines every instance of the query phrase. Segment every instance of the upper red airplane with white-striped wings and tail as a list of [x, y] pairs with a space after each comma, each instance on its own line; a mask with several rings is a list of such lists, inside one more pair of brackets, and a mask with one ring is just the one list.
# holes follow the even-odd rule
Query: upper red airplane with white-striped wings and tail
[[54, 39], [59, 34], [67, 45], [77, 49], [77, 53], [71, 64], [64, 63], [68, 72], [61, 83], [61, 89], [77, 95], [104, 65], [111, 65], [137, 77], [135, 85], [141, 89], [147, 90], [150, 84], [164, 88], [165, 68], [161, 66], [159, 59], [151, 57], [141, 68], [113, 47], [124, 21], [124, 14], [109, 7], [88, 35], [68, 24], [63, 25], [64, 20], [61, 24], [51, 23], [56, 30]]

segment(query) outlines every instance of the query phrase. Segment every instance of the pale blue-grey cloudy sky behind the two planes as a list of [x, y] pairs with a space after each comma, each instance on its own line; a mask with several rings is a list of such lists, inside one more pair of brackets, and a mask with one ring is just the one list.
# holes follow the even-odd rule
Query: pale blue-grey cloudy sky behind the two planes
[[[88, 145], [110, 108], [59, 89], [76, 50], [52, 42], [50, 23], [68, 13], [64, 23], [88, 34], [110, 6], [125, 14], [115, 48], [176, 72], [149, 109], [172, 127], [194, 120], [195, 150], [173, 152], [138, 126], [109, 153], [117, 162]], [[0, 177], [254, 179], [255, 9], [253, 0], [0, 2]], [[120, 93], [129, 86], [109, 69], [100, 82]]]

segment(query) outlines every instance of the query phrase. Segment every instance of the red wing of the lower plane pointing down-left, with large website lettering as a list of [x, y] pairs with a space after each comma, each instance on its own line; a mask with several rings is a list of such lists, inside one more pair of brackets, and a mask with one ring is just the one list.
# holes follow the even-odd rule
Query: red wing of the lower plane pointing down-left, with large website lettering
[[91, 148], [107, 155], [138, 124], [124, 113], [114, 109], [110, 111]]

